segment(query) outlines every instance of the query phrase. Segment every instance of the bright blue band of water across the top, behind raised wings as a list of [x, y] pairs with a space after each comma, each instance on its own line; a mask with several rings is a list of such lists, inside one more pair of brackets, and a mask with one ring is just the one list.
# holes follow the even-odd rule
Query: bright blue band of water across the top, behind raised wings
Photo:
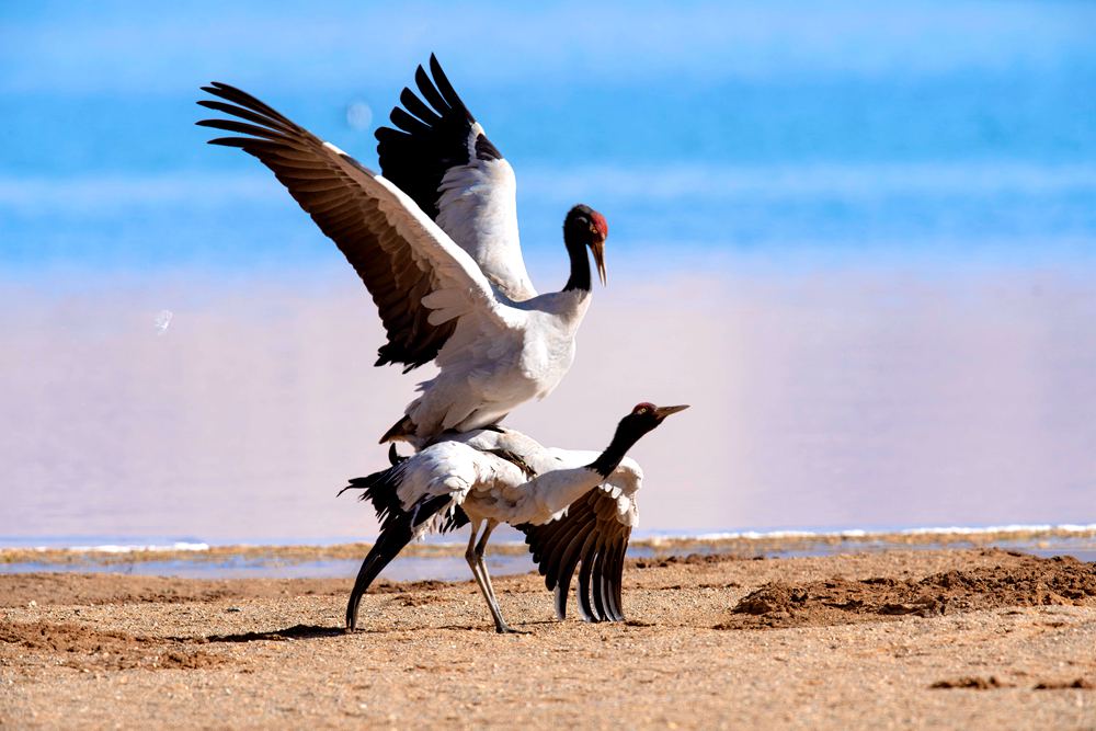
[[197, 87], [242, 85], [375, 164], [431, 50], [517, 170], [534, 260], [576, 199], [618, 261], [1096, 254], [1087, 3], [7, 3], [0, 23], [0, 266], [20, 276], [336, 261], [254, 160], [203, 144]]

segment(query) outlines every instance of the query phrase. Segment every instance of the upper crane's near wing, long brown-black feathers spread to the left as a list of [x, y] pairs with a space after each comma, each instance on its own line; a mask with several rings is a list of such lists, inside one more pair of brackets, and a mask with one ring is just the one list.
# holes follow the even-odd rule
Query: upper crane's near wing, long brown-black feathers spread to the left
[[209, 142], [238, 147], [273, 170], [362, 277], [388, 333], [376, 365], [401, 363], [406, 373], [429, 363], [463, 316], [502, 327], [515, 317], [468, 253], [396, 185], [239, 89], [215, 82], [203, 90], [225, 101], [198, 104], [244, 122], [197, 124], [248, 135]]

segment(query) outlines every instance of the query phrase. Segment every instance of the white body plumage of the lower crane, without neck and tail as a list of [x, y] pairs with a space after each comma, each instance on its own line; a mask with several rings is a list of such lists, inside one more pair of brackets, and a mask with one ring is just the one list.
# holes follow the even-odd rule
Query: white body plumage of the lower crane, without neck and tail
[[[521, 457], [537, 476], [529, 478], [517, 465], [491, 454], [492, 449]], [[636, 460], [625, 457], [608, 478], [603, 478], [586, 467], [597, 455], [545, 447], [513, 430], [457, 434], [400, 465], [397, 495], [408, 511], [423, 498], [452, 498], [448, 509], [435, 522], [423, 524], [418, 536], [429, 533], [457, 505], [473, 524], [495, 521], [543, 525], [566, 516], [571, 503], [595, 489], [616, 501], [616, 518], [621, 525], [635, 527], [639, 522], [636, 495], [642, 487], [642, 469]]]

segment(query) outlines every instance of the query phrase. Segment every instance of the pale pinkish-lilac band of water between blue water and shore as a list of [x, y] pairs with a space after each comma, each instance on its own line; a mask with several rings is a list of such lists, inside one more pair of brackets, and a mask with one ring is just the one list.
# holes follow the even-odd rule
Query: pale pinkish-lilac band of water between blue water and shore
[[[507, 423], [598, 448], [692, 403], [636, 448], [646, 529], [1096, 521], [1092, 272], [713, 272], [615, 273]], [[0, 536], [373, 535], [334, 493], [416, 379], [345, 274], [4, 286]]]

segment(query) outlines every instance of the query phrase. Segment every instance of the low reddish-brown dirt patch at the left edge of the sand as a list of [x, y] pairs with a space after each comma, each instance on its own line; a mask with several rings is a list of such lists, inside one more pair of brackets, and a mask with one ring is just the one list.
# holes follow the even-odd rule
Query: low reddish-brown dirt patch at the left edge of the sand
[[0, 625], [0, 653], [16, 649], [60, 656], [59, 664], [81, 670], [196, 670], [224, 662], [179, 640], [44, 621]]

